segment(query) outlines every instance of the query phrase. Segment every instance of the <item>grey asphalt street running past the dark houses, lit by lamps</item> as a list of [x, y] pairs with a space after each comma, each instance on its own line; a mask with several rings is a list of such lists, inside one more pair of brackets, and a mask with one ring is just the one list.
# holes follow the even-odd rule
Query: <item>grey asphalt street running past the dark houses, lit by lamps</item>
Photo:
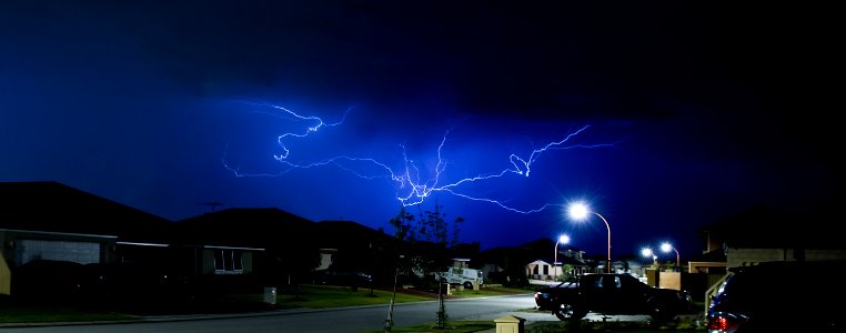
[[[524, 319], [536, 316], [555, 321], [552, 314], [534, 312], [534, 297], [531, 294], [447, 300], [445, 303], [447, 321], [494, 321], [507, 314]], [[433, 323], [437, 307], [436, 301], [396, 304], [393, 310], [394, 326]], [[0, 329], [0, 332], [379, 332], [384, 329], [389, 309], [389, 305], [377, 305], [329, 310], [284, 310], [249, 316], [151, 316], [133, 323], [19, 326]], [[526, 321], [530, 322], [531, 319]]]

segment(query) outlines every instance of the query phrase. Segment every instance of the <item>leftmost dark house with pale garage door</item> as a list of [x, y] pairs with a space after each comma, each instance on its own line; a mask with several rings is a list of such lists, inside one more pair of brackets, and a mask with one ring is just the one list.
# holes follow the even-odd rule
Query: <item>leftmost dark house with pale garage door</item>
[[0, 294], [29, 262], [115, 262], [122, 239], [153, 239], [168, 222], [58, 182], [0, 182]]

